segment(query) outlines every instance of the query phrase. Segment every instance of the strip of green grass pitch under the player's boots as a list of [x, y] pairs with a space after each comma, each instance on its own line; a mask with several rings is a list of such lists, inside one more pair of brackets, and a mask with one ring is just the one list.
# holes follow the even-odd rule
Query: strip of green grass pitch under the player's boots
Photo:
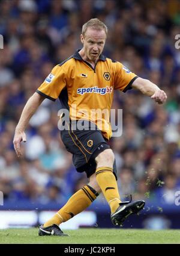
[[63, 243], [63, 244], [115, 244], [115, 243], [180, 243], [180, 230], [99, 229], [67, 230], [70, 237], [38, 236], [38, 228], [0, 229], [2, 243]]

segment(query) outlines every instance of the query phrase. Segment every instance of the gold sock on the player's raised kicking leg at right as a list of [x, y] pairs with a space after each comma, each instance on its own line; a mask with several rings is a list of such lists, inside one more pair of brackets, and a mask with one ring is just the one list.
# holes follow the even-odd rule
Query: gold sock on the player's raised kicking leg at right
[[110, 206], [111, 213], [114, 213], [121, 202], [118, 184], [116, 183], [113, 169], [110, 167], [99, 167], [96, 171], [96, 180], [100, 186], [106, 201]]

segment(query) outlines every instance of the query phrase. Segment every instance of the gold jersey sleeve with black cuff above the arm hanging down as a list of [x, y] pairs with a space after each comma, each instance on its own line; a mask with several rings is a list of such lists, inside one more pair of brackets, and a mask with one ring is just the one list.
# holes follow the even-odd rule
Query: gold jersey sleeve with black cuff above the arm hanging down
[[57, 65], [53, 67], [52, 72], [46, 77], [36, 92], [55, 101], [65, 86], [66, 79], [64, 69], [62, 66]]

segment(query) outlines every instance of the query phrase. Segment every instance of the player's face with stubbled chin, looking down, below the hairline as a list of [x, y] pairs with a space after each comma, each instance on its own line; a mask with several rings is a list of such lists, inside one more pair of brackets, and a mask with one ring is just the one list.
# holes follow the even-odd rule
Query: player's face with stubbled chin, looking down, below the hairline
[[95, 30], [88, 28], [85, 36], [80, 35], [81, 42], [86, 57], [91, 61], [96, 61], [103, 52], [104, 44], [106, 42], [106, 33], [104, 30]]

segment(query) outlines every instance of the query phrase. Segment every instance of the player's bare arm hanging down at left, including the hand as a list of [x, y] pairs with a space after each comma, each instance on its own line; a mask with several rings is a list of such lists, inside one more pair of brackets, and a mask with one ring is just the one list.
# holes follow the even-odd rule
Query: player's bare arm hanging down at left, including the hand
[[22, 114], [19, 119], [19, 123], [16, 126], [15, 134], [14, 134], [14, 149], [16, 151], [17, 157], [22, 156], [22, 152], [20, 150], [20, 142], [26, 142], [26, 134], [25, 129], [29, 123], [29, 120], [37, 111], [37, 108], [41, 105], [44, 101], [45, 97], [39, 95], [37, 92], [28, 99], [25, 107], [23, 108]]

